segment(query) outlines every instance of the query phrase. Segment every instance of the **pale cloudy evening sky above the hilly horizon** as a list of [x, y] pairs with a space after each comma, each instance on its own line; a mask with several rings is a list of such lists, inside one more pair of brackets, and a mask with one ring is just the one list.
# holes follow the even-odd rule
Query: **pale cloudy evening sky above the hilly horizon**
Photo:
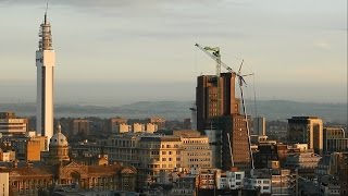
[[[35, 102], [44, 0], [0, 0], [0, 102]], [[247, 98], [347, 102], [347, 0], [51, 0], [55, 102], [195, 100], [220, 47]], [[224, 70], [223, 70], [224, 71]]]

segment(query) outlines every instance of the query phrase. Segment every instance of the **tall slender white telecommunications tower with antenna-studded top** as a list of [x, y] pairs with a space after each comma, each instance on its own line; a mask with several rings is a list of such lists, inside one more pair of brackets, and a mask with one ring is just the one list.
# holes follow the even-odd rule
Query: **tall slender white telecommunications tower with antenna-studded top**
[[[53, 135], [53, 69], [55, 53], [52, 48], [51, 25], [45, 20], [40, 25], [39, 45], [36, 50], [37, 117], [36, 131], [47, 138]], [[49, 140], [48, 145], [49, 146]]]

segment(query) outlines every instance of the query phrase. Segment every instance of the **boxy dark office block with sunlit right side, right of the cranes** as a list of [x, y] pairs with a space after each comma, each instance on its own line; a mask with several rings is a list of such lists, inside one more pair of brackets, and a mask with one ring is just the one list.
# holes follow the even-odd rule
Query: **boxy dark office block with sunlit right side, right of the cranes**
[[288, 119], [288, 142], [308, 144], [315, 154], [323, 152], [323, 121], [318, 117], [293, 117]]

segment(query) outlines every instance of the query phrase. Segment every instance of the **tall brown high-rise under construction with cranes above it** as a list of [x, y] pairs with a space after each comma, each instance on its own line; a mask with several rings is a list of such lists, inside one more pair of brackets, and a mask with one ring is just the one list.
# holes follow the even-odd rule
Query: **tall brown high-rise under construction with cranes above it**
[[197, 77], [197, 130], [212, 137], [215, 167], [248, 170], [248, 130], [246, 118], [239, 111], [240, 101], [235, 96], [235, 73]]

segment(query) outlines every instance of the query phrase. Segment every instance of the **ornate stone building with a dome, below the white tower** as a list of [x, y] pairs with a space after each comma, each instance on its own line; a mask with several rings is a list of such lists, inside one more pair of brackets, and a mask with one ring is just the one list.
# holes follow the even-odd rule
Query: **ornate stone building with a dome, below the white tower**
[[50, 138], [46, 166], [20, 168], [14, 164], [13, 168], [0, 168], [0, 173], [9, 173], [8, 182], [14, 195], [35, 196], [54, 184], [72, 183], [84, 189], [135, 191], [137, 170], [119, 163], [87, 166], [71, 161], [67, 139], [59, 128]]

